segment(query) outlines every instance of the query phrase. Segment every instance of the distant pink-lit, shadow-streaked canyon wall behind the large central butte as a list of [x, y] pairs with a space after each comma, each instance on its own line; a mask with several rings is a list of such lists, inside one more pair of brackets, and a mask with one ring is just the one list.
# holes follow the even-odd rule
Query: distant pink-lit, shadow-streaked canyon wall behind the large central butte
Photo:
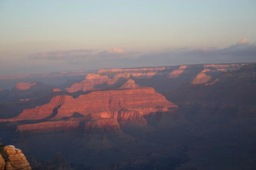
[[[157, 92], [178, 88], [182, 83], [203, 84], [216, 78], [222, 72], [238, 70], [239, 64], [195, 64], [168, 67], [145, 67], [131, 69], [100, 69], [97, 74], [88, 74], [80, 83], [66, 88], [67, 92], [115, 87], [129, 78], [139, 85], [151, 86]], [[212, 80], [213, 81], [213, 80]], [[162, 84], [162, 82], [165, 82]]]

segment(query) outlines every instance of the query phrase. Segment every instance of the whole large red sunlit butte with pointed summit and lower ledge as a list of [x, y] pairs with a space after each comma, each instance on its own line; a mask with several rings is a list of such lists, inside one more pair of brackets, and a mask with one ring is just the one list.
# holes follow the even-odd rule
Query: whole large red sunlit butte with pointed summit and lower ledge
[[[53, 113], [54, 109], [57, 109], [56, 114]], [[81, 94], [75, 99], [69, 95], [55, 96], [47, 104], [25, 109], [17, 117], [0, 119], [0, 122], [46, 119], [42, 123], [20, 125], [17, 129], [37, 132], [40, 128], [44, 131], [77, 130], [81, 127], [81, 122], [86, 122], [83, 125], [84, 131], [91, 132], [93, 127], [98, 130], [118, 130], [118, 123], [124, 121], [137, 120], [141, 124], [147, 124], [144, 115], [156, 112], [172, 113], [177, 109], [177, 105], [166, 100], [154, 88], [139, 86], [130, 79], [120, 88], [93, 91]], [[75, 113], [82, 117], [74, 117]], [[88, 115], [91, 116], [90, 119]]]

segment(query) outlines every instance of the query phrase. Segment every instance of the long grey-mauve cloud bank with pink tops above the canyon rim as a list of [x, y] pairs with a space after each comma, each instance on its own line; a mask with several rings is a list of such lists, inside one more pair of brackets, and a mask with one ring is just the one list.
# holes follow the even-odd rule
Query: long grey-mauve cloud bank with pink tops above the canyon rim
[[[125, 51], [113, 48], [105, 51], [76, 49], [35, 53], [29, 56], [34, 60], [62, 60], [77, 70], [99, 68], [145, 67], [181, 65], [197, 63], [236, 63], [256, 62], [256, 43], [242, 39], [226, 48], [179, 48], [158, 52]], [[83, 68], [84, 67], [84, 68]]]

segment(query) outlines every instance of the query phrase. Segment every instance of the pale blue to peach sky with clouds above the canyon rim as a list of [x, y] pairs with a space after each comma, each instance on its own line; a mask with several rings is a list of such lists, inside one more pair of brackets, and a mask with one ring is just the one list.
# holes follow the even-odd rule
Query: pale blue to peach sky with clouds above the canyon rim
[[0, 75], [256, 62], [255, 0], [0, 0]]

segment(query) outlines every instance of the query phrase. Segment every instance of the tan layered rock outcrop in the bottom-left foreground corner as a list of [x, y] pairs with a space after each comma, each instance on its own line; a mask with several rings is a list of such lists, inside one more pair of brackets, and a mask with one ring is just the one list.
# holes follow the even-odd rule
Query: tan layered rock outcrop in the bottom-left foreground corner
[[0, 170], [31, 170], [28, 160], [20, 149], [0, 143]]

